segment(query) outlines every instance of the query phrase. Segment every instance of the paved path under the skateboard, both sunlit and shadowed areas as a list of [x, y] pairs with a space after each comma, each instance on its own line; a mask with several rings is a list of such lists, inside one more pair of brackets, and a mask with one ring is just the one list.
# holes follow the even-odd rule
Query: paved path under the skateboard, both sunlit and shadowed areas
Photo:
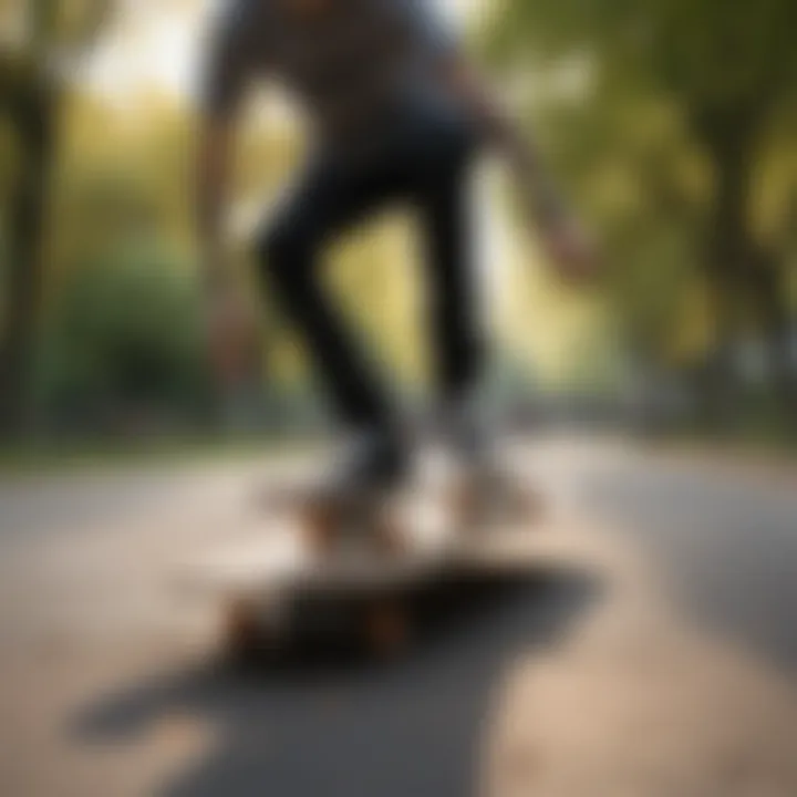
[[[579, 794], [581, 772], [590, 794], [622, 794], [614, 782], [633, 776], [628, 794], [682, 797], [683, 764], [708, 794], [710, 753], [691, 745], [687, 766], [686, 748], [662, 743], [667, 755], [640, 764], [627, 724], [669, 717], [713, 739], [704, 718], [718, 713], [700, 697], [723, 673], [713, 700], [745, 696], [734, 705], [757, 734], [735, 749], [772, 774], [766, 794], [797, 793], [762, 731], [794, 729], [788, 484], [623, 445], [552, 441], [521, 456], [557, 511], [581, 518], [531, 578], [475, 596], [404, 661], [268, 673], [219, 667], [206, 618], [188, 622], [166, 589], [186, 550], [240, 521], [257, 468], [0, 486], [0, 793], [556, 797]], [[629, 665], [629, 646], [659, 651], [666, 671]], [[622, 680], [629, 666], [645, 676]], [[671, 684], [692, 708], [653, 701], [639, 715], [632, 681], [643, 695]], [[596, 694], [614, 697], [591, 708]], [[640, 787], [644, 773], [679, 788]]]

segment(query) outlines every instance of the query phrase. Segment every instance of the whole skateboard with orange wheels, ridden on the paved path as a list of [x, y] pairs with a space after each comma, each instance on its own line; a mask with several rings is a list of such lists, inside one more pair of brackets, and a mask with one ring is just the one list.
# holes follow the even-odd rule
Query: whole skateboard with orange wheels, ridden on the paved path
[[304, 644], [407, 649], [432, 593], [469, 572], [511, 567], [500, 547], [538, 503], [514, 485], [496, 513], [467, 480], [426, 476], [377, 500], [319, 496], [307, 479], [260, 497], [250, 539], [195, 562], [194, 583], [221, 607], [221, 648], [235, 659]]

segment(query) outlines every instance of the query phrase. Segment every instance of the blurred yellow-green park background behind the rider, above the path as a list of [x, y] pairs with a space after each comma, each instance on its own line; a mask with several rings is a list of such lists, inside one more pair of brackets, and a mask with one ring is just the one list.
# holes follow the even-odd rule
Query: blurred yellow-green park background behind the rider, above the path
[[[201, 0], [0, 3], [0, 435], [4, 449], [325, 428], [300, 342], [262, 301], [240, 395], [210, 379], [193, 238]], [[791, 0], [446, 0], [603, 252], [557, 282], [485, 164], [476, 240], [488, 392], [517, 418], [782, 444], [797, 420], [797, 7]], [[300, 161], [258, 91], [240, 133], [232, 267]], [[426, 395], [408, 219], [331, 257], [330, 289], [410, 403]], [[253, 434], [257, 432], [257, 434]]]

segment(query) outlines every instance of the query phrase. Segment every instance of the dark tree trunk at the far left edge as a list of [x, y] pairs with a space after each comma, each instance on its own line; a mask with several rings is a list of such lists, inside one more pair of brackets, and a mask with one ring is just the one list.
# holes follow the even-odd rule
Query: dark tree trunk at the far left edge
[[21, 156], [8, 219], [8, 309], [0, 334], [0, 435], [4, 437], [24, 436], [34, 422], [37, 311], [55, 114], [55, 94], [48, 86], [32, 86], [27, 101], [11, 114]]

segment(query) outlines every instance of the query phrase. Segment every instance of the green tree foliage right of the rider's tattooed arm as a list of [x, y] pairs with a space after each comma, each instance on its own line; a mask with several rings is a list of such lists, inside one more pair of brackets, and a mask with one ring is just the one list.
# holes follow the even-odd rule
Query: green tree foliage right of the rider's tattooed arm
[[797, 198], [791, 0], [507, 0], [489, 48], [605, 235], [641, 361], [714, 360], [747, 334], [788, 369]]

